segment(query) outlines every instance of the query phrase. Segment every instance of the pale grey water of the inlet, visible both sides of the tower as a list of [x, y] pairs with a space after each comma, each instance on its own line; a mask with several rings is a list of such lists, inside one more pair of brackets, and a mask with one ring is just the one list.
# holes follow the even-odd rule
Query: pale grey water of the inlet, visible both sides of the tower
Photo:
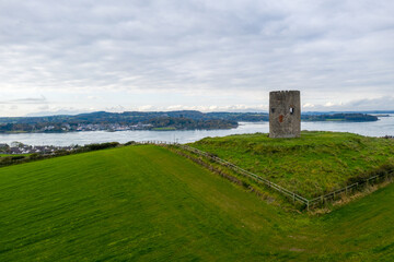
[[[394, 135], [394, 115], [382, 117], [375, 122], [301, 122], [302, 130], [351, 132], [368, 136]], [[19, 141], [30, 145], [71, 145], [103, 142], [161, 140], [179, 143], [194, 142], [207, 136], [225, 136], [240, 133], [268, 133], [268, 122], [241, 122], [230, 130], [187, 130], [187, 131], [119, 131], [119, 132], [70, 132], [70, 133], [22, 133], [0, 134], [0, 143]]]

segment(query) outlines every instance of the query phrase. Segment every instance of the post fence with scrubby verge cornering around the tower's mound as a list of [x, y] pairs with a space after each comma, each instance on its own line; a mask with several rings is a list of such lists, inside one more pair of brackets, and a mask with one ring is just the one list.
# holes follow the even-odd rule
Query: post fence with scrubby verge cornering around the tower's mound
[[204, 156], [204, 157], [207, 157], [208, 159], [211, 159], [222, 166], [225, 166], [232, 170], [234, 170], [235, 172], [244, 176], [244, 177], [248, 177], [248, 178], [252, 178], [254, 179], [255, 181], [257, 182], [260, 182], [263, 184], [265, 184], [266, 187], [268, 187], [269, 189], [273, 189], [273, 190], [276, 190], [277, 192], [281, 193], [282, 195], [289, 198], [290, 200], [292, 200], [293, 203], [296, 202], [300, 202], [302, 204], [305, 205], [306, 210], [310, 210], [311, 207], [315, 207], [315, 206], [320, 206], [320, 205], [323, 205], [324, 203], [327, 203], [327, 202], [331, 202], [331, 201], [335, 201], [336, 199], [338, 199], [339, 196], [341, 195], [347, 195], [347, 194], [351, 194], [356, 191], [359, 191], [360, 189], [364, 188], [364, 187], [368, 187], [370, 184], [374, 184], [374, 183], [378, 183], [378, 182], [382, 182], [382, 181], [392, 181], [392, 178], [394, 176], [394, 172], [385, 172], [385, 174], [380, 174], [380, 175], [376, 175], [376, 176], [373, 176], [373, 177], [370, 177], [363, 181], [359, 181], [359, 182], [356, 182], [356, 183], [352, 183], [350, 186], [347, 186], [347, 187], [344, 187], [341, 189], [338, 189], [338, 190], [335, 190], [333, 192], [329, 192], [327, 194], [322, 194], [317, 198], [314, 198], [314, 199], [306, 199], [306, 198], [303, 198], [302, 195], [299, 195], [273, 181], [269, 181], [268, 179], [266, 178], [263, 178], [256, 174], [253, 174], [253, 172], [250, 172], [228, 160], [224, 160], [222, 158], [219, 158], [218, 156], [215, 156], [212, 154], [209, 154], [207, 152], [204, 152], [204, 151], [200, 151], [200, 150], [197, 150], [195, 147], [192, 147], [192, 146], [188, 146], [188, 145], [185, 145], [185, 144], [179, 144], [179, 143], [176, 143], [176, 142], [167, 142], [167, 141], [157, 141], [157, 140], [150, 140], [150, 141], [142, 141], [142, 142], [139, 142], [140, 144], [155, 144], [155, 145], [161, 145], [161, 146], [167, 146], [167, 145], [172, 145], [172, 146], [176, 146], [176, 147], [179, 147], [179, 148], [183, 148], [185, 151], [188, 151], [188, 152], [192, 152], [194, 154], [197, 154], [197, 155], [200, 155], [200, 156]]

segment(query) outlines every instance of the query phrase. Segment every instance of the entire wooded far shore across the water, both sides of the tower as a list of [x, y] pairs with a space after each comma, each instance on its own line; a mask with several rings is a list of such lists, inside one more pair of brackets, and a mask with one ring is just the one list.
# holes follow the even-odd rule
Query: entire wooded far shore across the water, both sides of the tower
[[[239, 122], [268, 121], [266, 112], [200, 112], [178, 111], [125, 111], [86, 112], [47, 117], [0, 118], [1, 132], [69, 132], [96, 130], [196, 130], [231, 129]], [[302, 115], [303, 121], [376, 121], [378, 117], [366, 114]], [[86, 124], [90, 124], [86, 127]], [[138, 127], [131, 127], [139, 124]]]

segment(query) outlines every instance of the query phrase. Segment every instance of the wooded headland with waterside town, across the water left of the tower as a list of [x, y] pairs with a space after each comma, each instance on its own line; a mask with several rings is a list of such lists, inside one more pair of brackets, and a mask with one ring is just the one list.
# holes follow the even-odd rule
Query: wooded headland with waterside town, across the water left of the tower
[[[86, 127], [89, 124], [89, 127]], [[138, 127], [132, 127], [138, 126]], [[0, 132], [69, 132], [128, 129], [230, 129], [237, 121], [199, 111], [89, 112], [76, 116], [0, 118]]]

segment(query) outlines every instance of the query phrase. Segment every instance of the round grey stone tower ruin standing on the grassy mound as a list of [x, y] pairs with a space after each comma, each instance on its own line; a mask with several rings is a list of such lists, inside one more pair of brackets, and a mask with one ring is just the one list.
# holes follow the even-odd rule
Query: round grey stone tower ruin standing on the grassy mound
[[301, 99], [299, 91], [269, 93], [269, 138], [299, 138]]

